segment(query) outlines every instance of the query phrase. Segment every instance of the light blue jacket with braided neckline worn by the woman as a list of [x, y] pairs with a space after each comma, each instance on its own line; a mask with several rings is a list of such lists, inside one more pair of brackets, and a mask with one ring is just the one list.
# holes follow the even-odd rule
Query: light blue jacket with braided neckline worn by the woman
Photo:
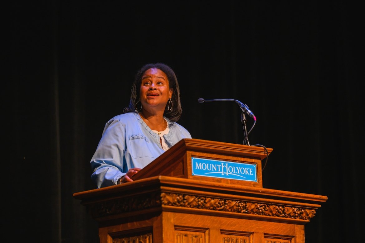
[[[176, 122], [169, 121], [169, 133], [164, 135], [171, 148], [190, 133]], [[116, 185], [130, 168], [143, 168], [164, 153], [160, 137], [143, 121], [138, 113], [130, 112], [110, 119], [91, 159], [91, 179], [97, 188]]]

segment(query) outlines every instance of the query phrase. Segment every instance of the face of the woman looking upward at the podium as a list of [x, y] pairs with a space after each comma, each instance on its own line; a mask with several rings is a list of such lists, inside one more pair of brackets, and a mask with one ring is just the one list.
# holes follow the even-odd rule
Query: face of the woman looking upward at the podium
[[166, 103], [171, 98], [173, 89], [169, 87], [166, 74], [158, 68], [150, 68], [142, 76], [139, 99], [144, 109], [165, 110]]

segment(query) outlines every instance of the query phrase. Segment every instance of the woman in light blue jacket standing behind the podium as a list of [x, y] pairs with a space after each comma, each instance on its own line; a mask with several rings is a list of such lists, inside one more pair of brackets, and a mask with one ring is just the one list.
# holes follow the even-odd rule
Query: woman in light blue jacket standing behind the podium
[[133, 181], [141, 168], [181, 139], [191, 138], [176, 123], [181, 111], [174, 71], [163, 63], [143, 66], [135, 76], [129, 107], [107, 122], [91, 159], [97, 188]]

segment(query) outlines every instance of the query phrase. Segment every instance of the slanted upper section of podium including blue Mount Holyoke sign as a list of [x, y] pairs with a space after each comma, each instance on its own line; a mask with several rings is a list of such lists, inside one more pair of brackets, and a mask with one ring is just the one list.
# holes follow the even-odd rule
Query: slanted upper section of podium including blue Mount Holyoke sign
[[262, 187], [261, 160], [272, 150], [184, 138], [141, 169], [132, 179], [162, 175]]

